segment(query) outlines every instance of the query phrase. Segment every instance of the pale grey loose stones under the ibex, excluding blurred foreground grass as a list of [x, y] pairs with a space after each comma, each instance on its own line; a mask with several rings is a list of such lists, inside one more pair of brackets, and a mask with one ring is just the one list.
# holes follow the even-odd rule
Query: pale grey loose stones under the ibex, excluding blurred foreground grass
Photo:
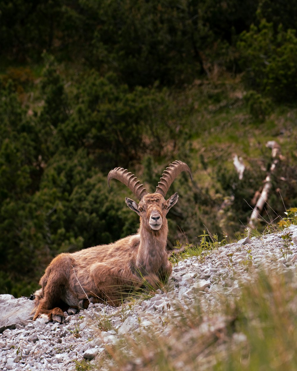
[[[189, 309], [197, 302], [215, 307], [222, 296], [239, 295], [241, 283], [260, 269], [295, 272], [297, 226], [243, 239], [203, 256], [176, 264], [164, 292], [120, 308], [90, 304], [76, 315], [66, 315], [62, 325], [43, 318], [33, 322], [28, 314], [32, 302], [0, 295], [0, 370], [73, 370], [75, 361], [95, 362], [127, 334], [153, 332], [169, 338], [174, 321], [182, 315], [178, 308]], [[210, 331], [208, 321], [219, 328], [224, 318], [205, 318], [204, 328]]]

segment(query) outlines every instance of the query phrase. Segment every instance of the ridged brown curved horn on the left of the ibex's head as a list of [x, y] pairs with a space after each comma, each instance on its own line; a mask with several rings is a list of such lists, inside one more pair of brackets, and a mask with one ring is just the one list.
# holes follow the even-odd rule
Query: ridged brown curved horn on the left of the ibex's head
[[116, 167], [114, 170], [111, 170], [107, 176], [107, 183], [108, 187], [110, 187], [109, 183], [111, 179], [117, 179], [120, 182], [127, 185], [128, 188], [135, 194], [138, 200], [147, 194], [146, 188], [144, 188], [143, 184], [140, 184], [140, 181], [137, 180], [134, 174], [128, 173], [127, 169], [123, 167]]

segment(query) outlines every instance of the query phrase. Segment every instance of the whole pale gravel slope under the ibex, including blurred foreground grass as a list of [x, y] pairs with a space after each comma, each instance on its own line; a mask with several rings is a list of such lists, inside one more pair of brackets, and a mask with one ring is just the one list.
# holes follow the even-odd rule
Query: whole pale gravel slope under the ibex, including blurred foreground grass
[[0, 370], [295, 370], [296, 241], [290, 225], [193, 249], [162, 291], [90, 304], [64, 324], [11, 322]]

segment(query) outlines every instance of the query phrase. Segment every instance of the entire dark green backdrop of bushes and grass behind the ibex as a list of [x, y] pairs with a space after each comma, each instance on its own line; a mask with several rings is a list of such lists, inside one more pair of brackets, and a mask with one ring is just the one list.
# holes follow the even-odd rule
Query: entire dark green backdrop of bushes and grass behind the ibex
[[283, 159], [263, 218], [296, 206], [296, 17], [271, 0], [0, 0], [0, 292], [136, 232], [133, 195], [107, 187], [117, 166], [150, 191], [170, 162], [191, 167], [169, 190], [169, 246], [244, 232], [268, 140]]

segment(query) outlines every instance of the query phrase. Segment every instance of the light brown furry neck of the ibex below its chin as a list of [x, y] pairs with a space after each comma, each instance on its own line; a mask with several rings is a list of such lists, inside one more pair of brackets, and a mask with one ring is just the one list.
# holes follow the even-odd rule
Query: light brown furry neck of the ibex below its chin
[[164, 220], [160, 230], [148, 230], [144, 223], [140, 223], [140, 245], [136, 265], [147, 273], [157, 273], [167, 260], [166, 243], [168, 226]]

